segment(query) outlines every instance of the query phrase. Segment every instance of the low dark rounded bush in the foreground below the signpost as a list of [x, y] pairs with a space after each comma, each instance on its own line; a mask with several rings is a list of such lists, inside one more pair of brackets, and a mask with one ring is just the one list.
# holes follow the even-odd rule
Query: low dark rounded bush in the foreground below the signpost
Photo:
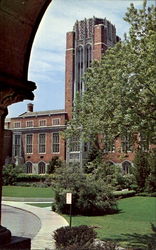
[[[57, 249], [89, 249], [96, 237], [93, 228], [85, 225], [61, 227], [54, 232]], [[77, 248], [76, 248], [77, 247]]]

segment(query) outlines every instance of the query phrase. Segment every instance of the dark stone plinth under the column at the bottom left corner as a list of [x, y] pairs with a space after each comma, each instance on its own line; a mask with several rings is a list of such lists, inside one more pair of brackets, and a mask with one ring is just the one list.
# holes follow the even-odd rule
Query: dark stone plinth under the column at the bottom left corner
[[0, 250], [31, 250], [31, 239], [24, 237], [12, 236], [11, 241], [1, 245]]

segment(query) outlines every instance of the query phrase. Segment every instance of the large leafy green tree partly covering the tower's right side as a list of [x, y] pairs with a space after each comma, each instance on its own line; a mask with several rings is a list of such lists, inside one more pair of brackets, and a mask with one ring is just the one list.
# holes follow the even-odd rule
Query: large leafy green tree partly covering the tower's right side
[[112, 138], [127, 132], [153, 137], [155, 18], [156, 7], [148, 7], [146, 1], [139, 10], [130, 5], [124, 18], [130, 24], [129, 34], [87, 70], [83, 79], [86, 91], [77, 96], [69, 131], [81, 128], [81, 137], [86, 140], [100, 133]]

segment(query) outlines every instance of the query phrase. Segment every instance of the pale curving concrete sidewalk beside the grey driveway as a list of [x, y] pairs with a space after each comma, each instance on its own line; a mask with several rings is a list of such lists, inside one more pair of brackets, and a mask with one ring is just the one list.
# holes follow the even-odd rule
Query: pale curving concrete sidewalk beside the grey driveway
[[55, 249], [52, 238], [53, 232], [57, 228], [68, 225], [68, 222], [62, 216], [49, 209], [31, 206], [24, 202], [3, 201], [2, 204], [29, 211], [40, 219], [41, 229], [31, 241], [32, 250]]

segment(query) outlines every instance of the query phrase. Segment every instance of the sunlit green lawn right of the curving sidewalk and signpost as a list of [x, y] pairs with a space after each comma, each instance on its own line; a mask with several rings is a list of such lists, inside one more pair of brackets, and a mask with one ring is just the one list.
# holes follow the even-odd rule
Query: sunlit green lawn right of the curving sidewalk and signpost
[[[147, 243], [152, 234], [151, 224], [156, 224], [156, 198], [131, 197], [118, 202], [120, 213], [106, 216], [73, 216], [72, 225], [95, 226], [102, 240]], [[69, 216], [64, 216], [69, 221]], [[153, 236], [152, 236], [153, 237]], [[145, 241], [143, 243], [143, 240]]]

